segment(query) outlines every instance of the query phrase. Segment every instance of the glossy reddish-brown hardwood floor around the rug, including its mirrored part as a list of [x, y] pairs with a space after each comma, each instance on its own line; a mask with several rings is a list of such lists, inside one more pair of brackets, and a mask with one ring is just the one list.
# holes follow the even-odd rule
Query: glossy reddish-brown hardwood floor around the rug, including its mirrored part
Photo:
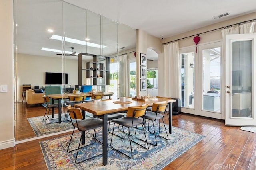
[[[19, 115], [23, 117], [22, 127], [16, 133], [33, 136], [27, 127], [26, 117], [44, 115], [42, 106], [17, 104]], [[164, 170], [214, 170], [214, 169], [256, 169], [256, 133], [240, 130], [240, 127], [224, 125], [223, 120], [189, 114], [173, 115], [173, 126], [200, 133], [206, 137], [188, 151], [172, 161]], [[168, 123], [167, 117], [165, 123]], [[22, 131], [22, 132], [20, 132]], [[65, 133], [67, 134], [67, 133]], [[56, 135], [61, 136], [64, 134]], [[39, 141], [47, 137], [17, 144], [15, 147], [0, 150], [1, 169], [47, 169]]]

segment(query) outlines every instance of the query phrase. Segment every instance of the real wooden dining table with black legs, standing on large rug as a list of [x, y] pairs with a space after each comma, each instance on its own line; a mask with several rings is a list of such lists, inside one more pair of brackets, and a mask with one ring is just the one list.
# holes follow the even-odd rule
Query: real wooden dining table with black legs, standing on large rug
[[[170, 98], [154, 98], [152, 100], [136, 100], [134, 98], [127, 98], [126, 102], [120, 100], [95, 100], [90, 103], [74, 104], [76, 108], [82, 110], [83, 116], [85, 111], [90, 112], [94, 117], [102, 117], [102, 164], [108, 164], [108, 115], [122, 113], [128, 110], [128, 107], [141, 106], [148, 104], [148, 107], [157, 102], [168, 102], [168, 115], [169, 115], [169, 133], [172, 133], [172, 103], [176, 102], [175, 99]], [[82, 144], [85, 143], [85, 133], [82, 131]]]

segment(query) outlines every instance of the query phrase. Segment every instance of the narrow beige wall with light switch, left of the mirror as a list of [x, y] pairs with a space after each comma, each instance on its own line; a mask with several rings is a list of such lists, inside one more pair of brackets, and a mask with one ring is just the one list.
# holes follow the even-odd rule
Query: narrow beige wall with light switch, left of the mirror
[[15, 145], [13, 93], [13, 2], [0, 0], [0, 85], [8, 86], [0, 93], [0, 149]]

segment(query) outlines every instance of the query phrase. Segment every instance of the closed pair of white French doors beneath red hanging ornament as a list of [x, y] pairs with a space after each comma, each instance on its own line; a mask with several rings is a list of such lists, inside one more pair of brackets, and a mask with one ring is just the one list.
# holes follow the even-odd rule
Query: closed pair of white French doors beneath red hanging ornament
[[221, 42], [181, 49], [182, 112], [223, 119]]

